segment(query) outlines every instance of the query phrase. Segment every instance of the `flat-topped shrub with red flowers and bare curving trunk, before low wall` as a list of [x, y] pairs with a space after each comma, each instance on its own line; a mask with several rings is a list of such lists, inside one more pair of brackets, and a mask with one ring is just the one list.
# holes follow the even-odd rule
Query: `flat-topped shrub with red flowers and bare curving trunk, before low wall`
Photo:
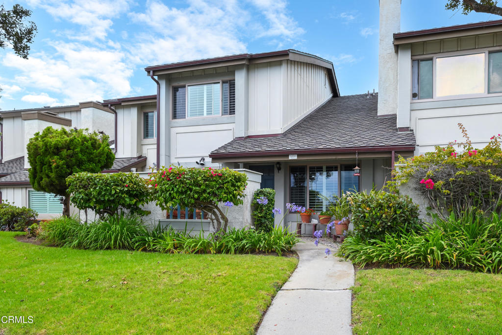
[[180, 205], [208, 213], [215, 232], [226, 232], [228, 218], [218, 204], [243, 203], [246, 175], [228, 168], [170, 166], [150, 174], [156, 204], [166, 210]]

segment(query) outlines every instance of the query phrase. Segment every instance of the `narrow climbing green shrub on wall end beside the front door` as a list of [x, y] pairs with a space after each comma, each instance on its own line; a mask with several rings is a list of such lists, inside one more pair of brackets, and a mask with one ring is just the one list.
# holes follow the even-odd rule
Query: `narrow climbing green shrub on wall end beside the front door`
[[270, 232], [274, 228], [274, 203], [276, 191], [272, 188], [261, 188], [253, 195], [253, 212], [257, 231]]

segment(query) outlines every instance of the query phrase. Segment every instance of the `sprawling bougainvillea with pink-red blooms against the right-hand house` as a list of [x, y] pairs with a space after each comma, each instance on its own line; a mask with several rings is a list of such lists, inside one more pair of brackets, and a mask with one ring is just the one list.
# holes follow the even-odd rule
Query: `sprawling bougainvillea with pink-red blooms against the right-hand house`
[[413, 183], [412, 188], [429, 199], [438, 213], [461, 212], [469, 207], [502, 210], [502, 149], [500, 134], [482, 149], [474, 149], [462, 124], [464, 142], [410, 159], [401, 158], [391, 188]]

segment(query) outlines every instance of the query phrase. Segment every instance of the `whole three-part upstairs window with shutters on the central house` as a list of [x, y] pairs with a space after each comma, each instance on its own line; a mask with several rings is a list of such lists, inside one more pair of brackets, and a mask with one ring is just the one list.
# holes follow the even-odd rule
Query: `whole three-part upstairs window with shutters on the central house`
[[173, 87], [173, 119], [235, 114], [235, 80]]

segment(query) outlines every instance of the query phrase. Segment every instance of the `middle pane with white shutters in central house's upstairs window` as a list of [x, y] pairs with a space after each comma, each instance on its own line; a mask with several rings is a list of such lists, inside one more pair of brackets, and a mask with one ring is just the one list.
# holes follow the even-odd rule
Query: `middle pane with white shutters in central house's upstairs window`
[[188, 86], [188, 117], [220, 115], [220, 83]]

